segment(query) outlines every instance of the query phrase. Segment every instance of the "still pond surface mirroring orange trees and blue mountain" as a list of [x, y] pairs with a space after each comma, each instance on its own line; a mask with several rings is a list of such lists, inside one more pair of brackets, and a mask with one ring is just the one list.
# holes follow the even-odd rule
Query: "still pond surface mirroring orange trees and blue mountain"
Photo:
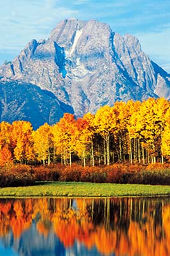
[[0, 199], [0, 255], [168, 256], [170, 198]]

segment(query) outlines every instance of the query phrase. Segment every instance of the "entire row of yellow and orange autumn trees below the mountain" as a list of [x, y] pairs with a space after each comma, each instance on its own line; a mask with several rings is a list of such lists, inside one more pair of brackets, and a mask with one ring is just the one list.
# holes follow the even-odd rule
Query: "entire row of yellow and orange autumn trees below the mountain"
[[164, 163], [170, 156], [170, 103], [164, 98], [116, 102], [82, 118], [65, 113], [36, 131], [27, 121], [0, 124], [0, 164]]

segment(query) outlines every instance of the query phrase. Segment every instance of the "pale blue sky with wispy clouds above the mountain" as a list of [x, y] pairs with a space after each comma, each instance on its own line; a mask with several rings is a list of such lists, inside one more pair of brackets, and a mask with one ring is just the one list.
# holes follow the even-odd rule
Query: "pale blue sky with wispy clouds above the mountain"
[[[1, 3], [2, 2], [2, 3]], [[31, 41], [48, 38], [57, 22], [97, 19], [137, 36], [150, 58], [170, 72], [169, 0], [0, 0], [0, 64]]]

